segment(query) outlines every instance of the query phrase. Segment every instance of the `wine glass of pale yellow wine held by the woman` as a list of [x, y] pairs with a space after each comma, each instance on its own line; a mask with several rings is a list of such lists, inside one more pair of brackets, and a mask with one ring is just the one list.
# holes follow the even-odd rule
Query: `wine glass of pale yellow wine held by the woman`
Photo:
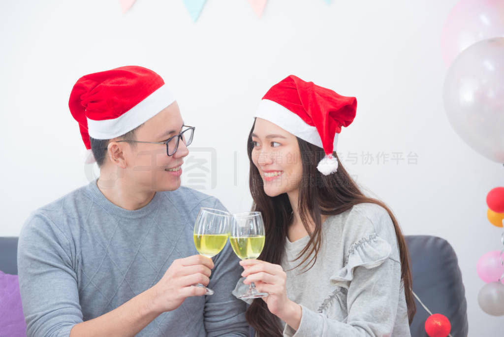
[[[234, 253], [242, 260], [256, 259], [264, 247], [265, 230], [261, 212], [243, 212], [233, 214], [229, 242]], [[254, 282], [248, 290], [238, 296], [239, 299], [254, 299], [266, 297], [268, 293], [260, 293]]]

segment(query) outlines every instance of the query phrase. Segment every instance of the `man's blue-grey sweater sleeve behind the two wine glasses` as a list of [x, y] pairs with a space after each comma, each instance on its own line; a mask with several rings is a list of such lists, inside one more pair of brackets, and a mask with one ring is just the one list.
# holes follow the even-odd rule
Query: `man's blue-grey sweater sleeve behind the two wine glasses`
[[[226, 210], [218, 200], [213, 208]], [[229, 242], [213, 260], [214, 269], [208, 287], [214, 290], [214, 295], [207, 296], [205, 302], [207, 336], [248, 336], [246, 304], [231, 294], [242, 268]]]

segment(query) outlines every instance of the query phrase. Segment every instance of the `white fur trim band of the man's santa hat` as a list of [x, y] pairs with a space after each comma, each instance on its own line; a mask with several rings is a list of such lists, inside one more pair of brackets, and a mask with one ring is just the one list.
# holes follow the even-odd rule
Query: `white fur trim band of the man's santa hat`
[[95, 139], [112, 139], [135, 129], [147, 122], [175, 101], [166, 84], [147, 96], [121, 116], [103, 121], [88, 120], [89, 136]]

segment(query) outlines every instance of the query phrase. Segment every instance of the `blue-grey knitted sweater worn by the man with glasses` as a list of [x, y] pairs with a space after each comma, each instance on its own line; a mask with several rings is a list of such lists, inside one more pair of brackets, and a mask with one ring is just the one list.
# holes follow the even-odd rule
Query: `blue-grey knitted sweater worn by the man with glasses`
[[[155, 285], [173, 260], [198, 254], [193, 228], [213, 197], [181, 187], [145, 207], [108, 201], [96, 181], [42, 207], [19, 238], [18, 268], [28, 336], [68, 336]], [[242, 268], [229, 243], [213, 258], [212, 296], [187, 298], [139, 336], [246, 336], [245, 304], [231, 295]]]

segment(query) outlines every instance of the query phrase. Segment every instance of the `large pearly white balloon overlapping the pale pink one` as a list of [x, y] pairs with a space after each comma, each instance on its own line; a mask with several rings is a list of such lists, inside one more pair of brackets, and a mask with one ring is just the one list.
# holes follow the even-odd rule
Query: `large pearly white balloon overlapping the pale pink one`
[[444, 102], [457, 134], [504, 163], [504, 37], [476, 42], [459, 54], [445, 79]]

